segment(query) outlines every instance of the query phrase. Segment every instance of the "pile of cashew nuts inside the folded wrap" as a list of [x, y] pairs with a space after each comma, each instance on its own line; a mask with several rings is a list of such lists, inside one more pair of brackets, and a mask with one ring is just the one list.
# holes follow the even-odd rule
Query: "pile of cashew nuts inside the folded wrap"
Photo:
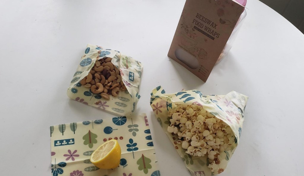
[[92, 93], [109, 100], [110, 95], [117, 96], [119, 90], [126, 90], [121, 80], [119, 69], [111, 63], [112, 58], [99, 59], [89, 74], [80, 81], [81, 85], [90, 88]]

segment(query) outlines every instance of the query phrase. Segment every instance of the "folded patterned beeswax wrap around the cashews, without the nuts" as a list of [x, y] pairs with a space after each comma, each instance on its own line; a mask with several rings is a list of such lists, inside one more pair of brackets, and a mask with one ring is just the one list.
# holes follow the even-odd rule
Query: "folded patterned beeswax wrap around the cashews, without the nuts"
[[[126, 91], [120, 91], [116, 97], [110, 95], [110, 100], [105, 100], [100, 94], [92, 93], [90, 88], [86, 88], [79, 83], [88, 75], [96, 60], [105, 57], [112, 58], [111, 62], [119, 69], [122, 81], [127, 89]], [[135, 110], [140, 98], [138, 92], [142, 71], [142, 64], [130, 56], [126, 56], [119, 51], [88, 44], [67, 90], [67, 96], [78, 102], [118, 115], [130, 115]]]

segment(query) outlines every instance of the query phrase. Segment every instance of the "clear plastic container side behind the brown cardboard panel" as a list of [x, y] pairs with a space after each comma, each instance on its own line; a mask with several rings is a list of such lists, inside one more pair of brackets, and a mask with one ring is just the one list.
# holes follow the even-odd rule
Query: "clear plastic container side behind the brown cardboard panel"
[[[238, 3], [240, 3], [243, 6], [246, 6], [247, 0], [236, 0]], [[226, 54], [229, 52], [229, 50], [232, 47], [232, 44], [235, 40], [235, 38], [237, 37], [237, 33], [239, 32], [240, 27], [242, 26], [244, 19], [246, 17], [247, 13], [246, 13], [246, 9], [244, 9], [244, 11], [242, 12], [242, 14], [240, 15], [239, 20], [237, 21], [237, 24], [235, 25], [231, 36], [229, 37], [223, 51], [221, 52], [221, 54], [219, 55], [219, 58], [216, 61], [216, 64], [219, 63], [224, 56], [226, 56]]]

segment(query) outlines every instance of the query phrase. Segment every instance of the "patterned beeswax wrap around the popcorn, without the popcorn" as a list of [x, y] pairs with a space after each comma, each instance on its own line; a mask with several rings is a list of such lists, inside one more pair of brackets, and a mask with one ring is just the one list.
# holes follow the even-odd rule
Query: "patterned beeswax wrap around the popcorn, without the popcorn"
[[[237, 147], [242, 132], [244, 121], [244, 110], [248, 97], [232, 91], [227, 95], [202, 95], [199, 90], [188, 90], [172, 94], [165, 94], [165, 90], [158, 86], [151, 93], [150, 104], [157, 117], [157, 121], [168, 135], [169, 139], [176, 148], [178, 154], [185, 161], [186, 167], [193, 176], [210, 176], [219, 174], [226, 168], [230, 157]], [[204, 157], [192, 157], [185, 153], [181, 144], [177, 144], [178, 136], [172, 135], [167, 131], [170, 125], [168, 109], [176, 107], [177, 104], [195, 104], [202, 106], [206, 111], [213, 114], [220, 120], [228, 124], [235, 135], [235, 144], [232, 151], [225, 151], [226, 159], [211, 163], [211, 169], [207, 166], [210, 164], [207, 155]]]

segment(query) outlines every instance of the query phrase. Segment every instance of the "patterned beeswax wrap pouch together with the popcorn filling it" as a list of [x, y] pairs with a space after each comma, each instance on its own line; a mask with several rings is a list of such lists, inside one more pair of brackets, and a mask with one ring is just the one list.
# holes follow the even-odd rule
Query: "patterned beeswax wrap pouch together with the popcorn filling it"
[[158, 86], [151, 93], [150, 105], [190, 173], [210, 176], [224, 171], [239, 143], [247, 100], [235, 91], [166, 94]]

